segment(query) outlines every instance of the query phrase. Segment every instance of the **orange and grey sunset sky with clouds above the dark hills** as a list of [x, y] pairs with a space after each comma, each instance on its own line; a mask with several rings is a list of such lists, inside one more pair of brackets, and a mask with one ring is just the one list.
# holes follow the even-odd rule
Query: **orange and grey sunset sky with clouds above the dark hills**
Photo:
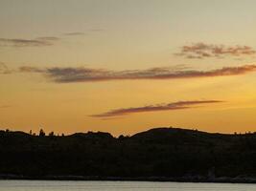
[[254, 132], [255, 7], [0, 0], [0, 128]]

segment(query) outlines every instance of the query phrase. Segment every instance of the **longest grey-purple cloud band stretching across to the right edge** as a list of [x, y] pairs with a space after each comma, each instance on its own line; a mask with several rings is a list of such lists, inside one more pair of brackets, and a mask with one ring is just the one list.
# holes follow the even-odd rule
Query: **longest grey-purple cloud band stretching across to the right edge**
[[221, 69], [200, 71], [183, 68], [151, 68], [148, 70], [131, 71], [109, 71], [105, 69], [91, 68], [36, 68], [21, 67], [22, 73], [44, 74], [57, 83], [71, 82], [97, 82], [109, 80], [134, 80], [134, 79], [178, 79], [178, 78], [198, 78], [247, 74], [256, 71], [256, 65], [244, 65], [239, 67], [223, 67]]

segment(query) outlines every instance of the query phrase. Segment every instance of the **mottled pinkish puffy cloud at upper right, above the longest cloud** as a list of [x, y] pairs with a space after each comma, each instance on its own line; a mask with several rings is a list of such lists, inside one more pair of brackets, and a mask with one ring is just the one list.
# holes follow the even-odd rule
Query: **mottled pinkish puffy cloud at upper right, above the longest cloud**
[[205, 43], [195, 43], [191, 46], [183, 46], [180, 53], [175, 53], [175, 55], [184, 56], [186, 58], [207, 58], [207, 57], [223, 57], [226, 55], [230, 56], [243, 56], [243, 55], [253, 55], [256, 51], [248, 46], [224, 46], [224, 45], [214, 45]]

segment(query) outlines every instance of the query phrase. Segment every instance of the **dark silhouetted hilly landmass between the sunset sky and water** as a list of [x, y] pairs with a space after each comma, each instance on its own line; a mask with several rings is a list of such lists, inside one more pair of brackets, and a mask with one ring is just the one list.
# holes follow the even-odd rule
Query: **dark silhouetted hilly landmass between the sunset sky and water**
[[256, 182], [256, 133], [156, 128], [33, 136], [0, 131], [0, 179]]

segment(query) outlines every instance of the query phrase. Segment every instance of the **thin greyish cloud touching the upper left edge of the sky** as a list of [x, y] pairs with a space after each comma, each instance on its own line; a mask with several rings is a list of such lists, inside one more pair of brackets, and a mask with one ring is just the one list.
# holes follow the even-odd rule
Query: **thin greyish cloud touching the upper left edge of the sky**
[[44, 47], [54, 45], [58, 39], [55, 36], [43, 36], [35, 39], [0, 38], [0, 47]]

